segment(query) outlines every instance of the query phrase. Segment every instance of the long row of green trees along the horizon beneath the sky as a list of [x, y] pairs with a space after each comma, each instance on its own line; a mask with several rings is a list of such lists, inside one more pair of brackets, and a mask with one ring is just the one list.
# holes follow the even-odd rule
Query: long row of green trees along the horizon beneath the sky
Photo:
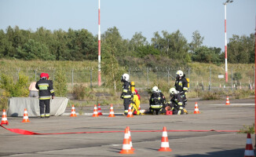
[[[220, 48], [203, 46], [199, 31], [192, 34], [192, 42], [177, 30], [172, 33], [156, 31], [149, 43], [141, 32], [124, 39], [116, 27], [101, 35], [102, 54], [112, 53], [123, 66], [137, 64], [170, 66], [191, 61], [220, 64], [224, 53]], [[254, 63], [254, 35], [233, 35], [229, 38], [229, 63]], [[87, 31], [49, 31], [43, 27], [33, 32], [19, 27], [0, 30], [0, 58], [21, 60], [97, 60], [97, 35]]]

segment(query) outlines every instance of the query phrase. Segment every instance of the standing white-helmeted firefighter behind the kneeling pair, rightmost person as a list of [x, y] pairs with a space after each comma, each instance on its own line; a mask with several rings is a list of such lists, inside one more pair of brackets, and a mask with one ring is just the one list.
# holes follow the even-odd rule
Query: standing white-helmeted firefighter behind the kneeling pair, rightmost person
[[185, 104], [187, 102], [187, 92], [188, 92], [188, 81], [185, 79], [185, 74], [183, 71], [177, 71], [175, 89], [181, 94], [181, 97], [184, 99]]

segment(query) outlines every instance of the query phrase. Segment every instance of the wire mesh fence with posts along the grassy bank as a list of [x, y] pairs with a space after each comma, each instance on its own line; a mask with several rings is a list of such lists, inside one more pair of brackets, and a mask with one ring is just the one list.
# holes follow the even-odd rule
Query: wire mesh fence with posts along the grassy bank
[[[182, 70], [186, 78], [189, 79], [189, 89], [254, 89], [255, 70], [254, 66], [243, 68], [234, 66], [229, 68], [229, 82], [225, 82], [225, 73], [223, 68], [126, 68], [130, 75], [130, 81], [136, 83], [137, 88], [152, 88], [154, 84], [162, 83], [166, 86], [174, 86], [176, 71]], [[2, 71], [1, 71], [2, 72]], [[14, 79], [19, 79], [19, 73], [27, 75], [31, 81], [37, 81], [41, 72], [49, 73], [54, 81], [56, 69], [20, 69], [8, 71]], [[83, 83], [87, 86], [97, 86], [97, 69], [84, 68], [83, 70], [68, 70], [66, 77], [68, 87], [72, 88], [77, 83]], [[221, 78], [221, 76], [223, 78]], [[120, 76], [121, 78], [121, 76]], [[101, 82], [104, 82], [104, 75], [101, 75]], [[169, 88], [168, 87], [168, 88]]]

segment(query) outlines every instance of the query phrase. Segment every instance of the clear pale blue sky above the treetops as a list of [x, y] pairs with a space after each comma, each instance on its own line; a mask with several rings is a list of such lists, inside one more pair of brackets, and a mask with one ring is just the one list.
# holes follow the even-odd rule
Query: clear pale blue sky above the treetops
[[[136, 32], [151, 42], [154, 32], [180, 30], [192, 42], [199, 31], [203, 46], [225, 48], [226, 0], [101, 0], [101, 34], [117, 27], [123, 38]], [[226, 7], [227, 40], [255, 33], [256, 0], [233, 0]], [[0, 0], [0, 29], [36, 31], [87, 29], [98, 34], [98, 0]]]

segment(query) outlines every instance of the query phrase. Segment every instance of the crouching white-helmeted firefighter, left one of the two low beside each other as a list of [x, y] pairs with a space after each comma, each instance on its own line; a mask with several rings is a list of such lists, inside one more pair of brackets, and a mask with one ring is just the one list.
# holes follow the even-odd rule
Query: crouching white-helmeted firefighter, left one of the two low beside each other
[[152, 88], [152, 94], [149, 99], [149, 113], [152, 113], [153, 115], [159, 115], [165, 103], [166, 98], [164, 97], [163, 93], [157, 86], [154, 86]]

